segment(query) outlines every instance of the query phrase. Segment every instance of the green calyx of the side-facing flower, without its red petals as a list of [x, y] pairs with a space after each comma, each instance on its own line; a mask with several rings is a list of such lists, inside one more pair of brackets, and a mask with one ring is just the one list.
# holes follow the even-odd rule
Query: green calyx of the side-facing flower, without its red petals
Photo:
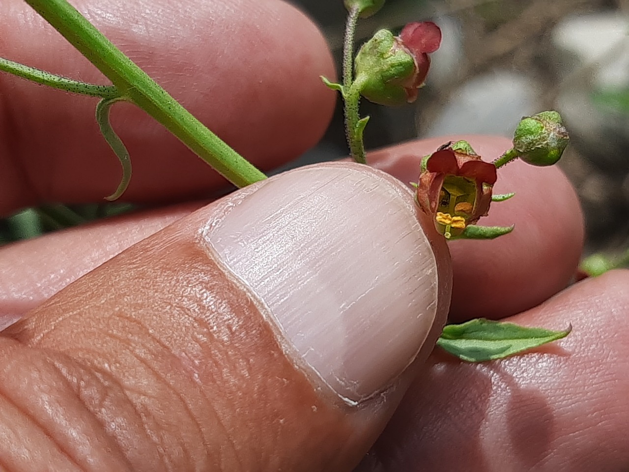
[[380, 30], [360, 48], [355, 60], [356, 82], [360, 94], [369, 101], [386, 106], [408, 103], [406, 82], [415, 76], [415, 60], [396, 38]]

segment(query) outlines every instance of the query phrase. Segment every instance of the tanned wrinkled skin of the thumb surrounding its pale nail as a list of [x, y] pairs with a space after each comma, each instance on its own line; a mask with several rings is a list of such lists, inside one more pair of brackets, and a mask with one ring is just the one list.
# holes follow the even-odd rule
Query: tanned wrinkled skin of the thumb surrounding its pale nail
[[[11, 405], [13, 415], [3, 427], [35, 438], [26, 449], [36, 452], [37, 438], [48, 437], [50, 469], [62, 469], [68, 458], [77, 469], [98, 471], [355, 466], [445, 322], [447, 250], [435, 240], [436, 321], [415, 364], [399, 381], [350, 407], [291, 361], [269, 313], [260, 312], [262, 303], [225, 273], [203, 242], [208, 225], [267, 182], [175, 221], [4, 330], [0, 402]], [[417, 216], [426, 223], [423, 214]], [[6, 439], [0, 441], [0, 464], [30, 470], [28, 455], [14, 454], [19, 438]], [[98, 463], [92, 449], [113, 454]]]

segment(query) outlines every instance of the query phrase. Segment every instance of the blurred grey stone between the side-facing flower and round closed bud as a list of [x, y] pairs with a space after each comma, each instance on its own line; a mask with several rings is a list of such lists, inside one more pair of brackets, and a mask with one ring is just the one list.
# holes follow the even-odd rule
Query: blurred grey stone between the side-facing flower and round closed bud
[[513, 72], [476, 76], [450, 95], [437, 118], [425, 128], [425, 137], [483, 133], [513, 136], [522, 116], [540, 111], [539, 85]]

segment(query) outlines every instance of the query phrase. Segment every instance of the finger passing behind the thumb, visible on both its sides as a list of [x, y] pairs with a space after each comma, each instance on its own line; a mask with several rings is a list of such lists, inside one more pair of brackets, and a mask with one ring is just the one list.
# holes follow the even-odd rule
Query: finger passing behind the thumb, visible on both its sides
[[[464, 138], [487, 157], [498, 155], [508, 145], [504, 138]], [[369, 155], [369, 162], [405, 183], [416, 181], [421, 156], [448, 139], [420, 140], [379, 150]], [[450, 318], [455, 322], [513, 315], [565, 288], [574, 275], [582, 247], [582, 216], [564, 174], [555, 168], [509, 164], [499, 172], [496, 184], [496, 193], [508, 191], [517, 194], [509, 201], [494, 203], [490, 216], [482, 218], [481, 224], [516, 223], [511, 235], [448, 245], [454, 265]], [[134, 218], [138, 218], [135, 225]], [[172, 221], [164, 216], [162, 224], [156, 218], [142, 213], [129, 215], [123, 227], [114, 219], [111, 225], [99, 222], [1, 248], [0, 286], [4, 290], [0, 319], [14, 320], [65, 284]], [[47, 260], [42, 262], [46, 249]]]

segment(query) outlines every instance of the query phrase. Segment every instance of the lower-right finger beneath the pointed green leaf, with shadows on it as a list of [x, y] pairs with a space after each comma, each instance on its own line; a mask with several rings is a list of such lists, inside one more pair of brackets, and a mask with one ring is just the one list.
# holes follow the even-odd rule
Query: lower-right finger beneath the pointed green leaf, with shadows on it
[[611, 272], [509, 318], [572, 323], [559, 345], [482, 364], [435, 354], [358, 470], [626, 470], [627, 286]]

